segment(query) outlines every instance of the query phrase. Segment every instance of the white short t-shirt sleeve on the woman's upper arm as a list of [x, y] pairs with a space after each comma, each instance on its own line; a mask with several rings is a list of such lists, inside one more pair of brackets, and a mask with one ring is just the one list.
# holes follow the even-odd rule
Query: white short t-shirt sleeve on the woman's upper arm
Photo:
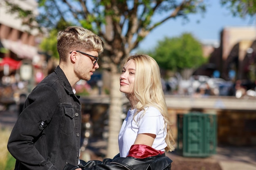
[[151, 133], [157, 135], [164, 124], [164, 118], [157, 108], [149, 107], [146, 113], [138, 121], [140, 133]]

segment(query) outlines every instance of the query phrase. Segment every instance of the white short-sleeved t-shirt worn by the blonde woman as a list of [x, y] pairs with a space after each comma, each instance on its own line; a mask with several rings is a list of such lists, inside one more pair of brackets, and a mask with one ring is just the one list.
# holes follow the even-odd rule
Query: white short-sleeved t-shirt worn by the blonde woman
[[164, 151], [164, 148], [167, 146], [165, 143], [166, 130], [164, 129], [164, 117], [155, 107], [148, 107], [145, 108], [145, 110], [146, 112], [144, 113], [144, 116], [139, 120], [137, 120], [137, 118], [144, 111], [142, 110], [135, 116], [137, 124], [133, 119], [136, 109], [128, 111], [118, 137], [120, 157], [126, 157], [128, 155], [130, 147], [134, 144], [137, 134], [140, 133], [151, 133], [156, 135], [152, 146], [152, 148], [156, 150]]

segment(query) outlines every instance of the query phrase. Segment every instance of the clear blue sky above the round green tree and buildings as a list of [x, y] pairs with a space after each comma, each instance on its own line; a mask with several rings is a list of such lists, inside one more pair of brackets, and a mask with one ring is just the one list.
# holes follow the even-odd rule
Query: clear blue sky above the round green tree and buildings
[[[220, 31], [225, 26], [256, 26], [255, 19], [249, 17], [233, 17], [227, 7], [220, 5], [220, 0], [208, 0], [210, 6], [204, 17], [202, 14], [189, 15], [189, 22], [182, 24], [182, 19], [169, 20], [153, 30], [142, 42], [138, 49], [149, 50], [156, 46], [157, 41], [164, 37], [180, 36], [189, 32], [201, 42], [220, 41]], [[198, 23], [197, 21], [200, 20]]]

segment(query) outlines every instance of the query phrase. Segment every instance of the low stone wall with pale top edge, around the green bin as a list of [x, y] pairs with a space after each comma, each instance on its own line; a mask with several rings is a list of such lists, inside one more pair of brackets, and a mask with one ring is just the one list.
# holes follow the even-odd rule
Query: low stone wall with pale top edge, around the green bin
[[217, 114], [217, 144], [230, 146], [256, 146], [256, 111], [252, 110], [203, 110], [168, 109], [177, 141], [177, 115], [193, 111]]

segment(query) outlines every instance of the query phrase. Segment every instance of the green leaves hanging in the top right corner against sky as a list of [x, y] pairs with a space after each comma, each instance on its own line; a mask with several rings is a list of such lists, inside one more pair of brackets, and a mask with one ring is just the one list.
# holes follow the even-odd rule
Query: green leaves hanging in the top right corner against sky
[[220, 0], [222, 6], [227, 6], [233, 16], [255, 16], [256, 0]]

